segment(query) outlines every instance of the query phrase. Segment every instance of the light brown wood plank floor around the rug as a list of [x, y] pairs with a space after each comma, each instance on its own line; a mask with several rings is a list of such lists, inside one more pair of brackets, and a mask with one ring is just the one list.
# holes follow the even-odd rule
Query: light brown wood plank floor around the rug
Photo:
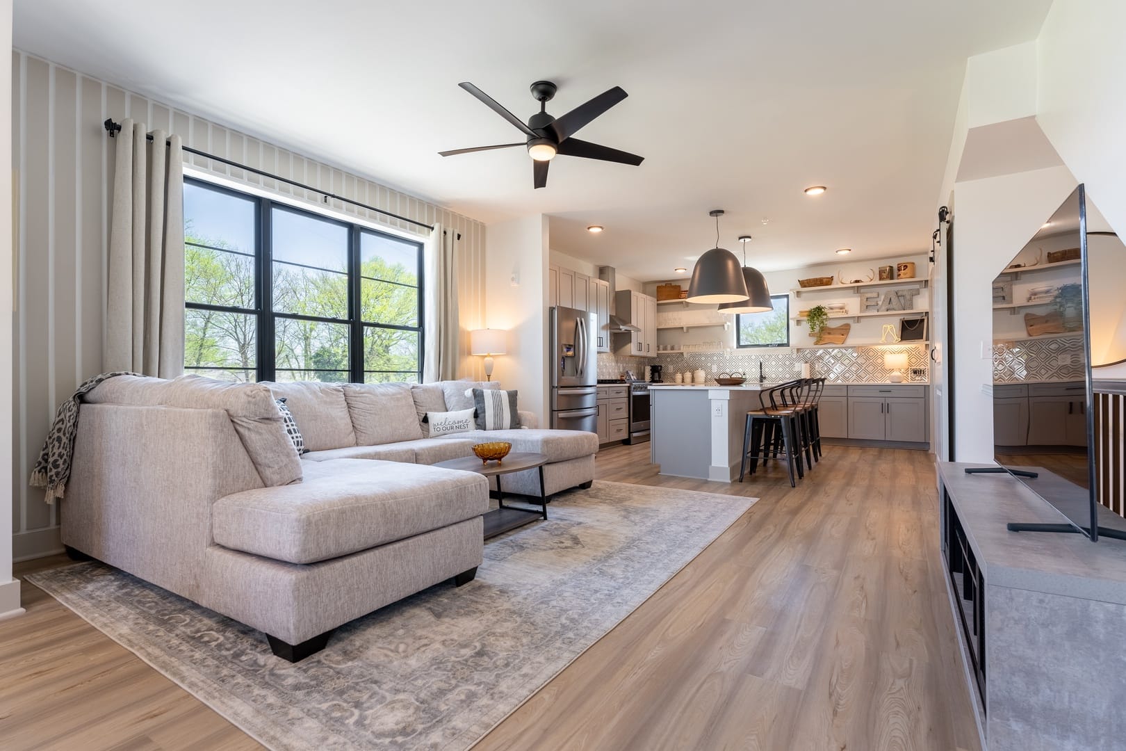
[[[477, 749], [980, 748], [928, 454], [826, 446], [796, 490], [780, 464], [742, 485], [661, 477], [647, 444], [597, 467], [761, 500]], [[0, 623], [3, 748], [260, 748], [27, 583], [25, 605]]]

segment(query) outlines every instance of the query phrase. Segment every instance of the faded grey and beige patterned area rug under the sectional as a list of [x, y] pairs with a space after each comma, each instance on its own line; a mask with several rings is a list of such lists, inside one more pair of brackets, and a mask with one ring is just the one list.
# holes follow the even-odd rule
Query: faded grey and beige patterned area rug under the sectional
[[100, 563], [27, 576], [272, 749], [467, 749], [757, 499], [596, 482], [489, 540], [477, 578], [358, 618], [297, 664], [259, 632]]

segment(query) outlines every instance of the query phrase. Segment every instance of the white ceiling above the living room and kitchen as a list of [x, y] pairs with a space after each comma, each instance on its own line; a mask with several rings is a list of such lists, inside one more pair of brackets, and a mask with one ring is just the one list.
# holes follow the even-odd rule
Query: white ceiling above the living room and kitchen
[[[763, 270], [928, 249], [965, 60], [1036, 37], [1051, 0], [15, 5], [21, 50], [484, 222], [548, 214], [556, 250], [656, 279], [712, 247], [715, 207]], [[579, 137], [645, 162], [561, 157], [533, 190], [522, 149], [437, 155], [521, 140], [459, 81], [526, 118], [537, 79], [556, 116], [622, 86]]]

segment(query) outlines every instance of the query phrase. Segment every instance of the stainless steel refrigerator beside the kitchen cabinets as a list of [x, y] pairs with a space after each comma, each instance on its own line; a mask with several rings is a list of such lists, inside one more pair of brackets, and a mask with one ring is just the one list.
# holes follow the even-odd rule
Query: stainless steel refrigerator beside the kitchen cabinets
[[598, 350], [595, 313], [551, 309], [552, 428], [598, 431]]

